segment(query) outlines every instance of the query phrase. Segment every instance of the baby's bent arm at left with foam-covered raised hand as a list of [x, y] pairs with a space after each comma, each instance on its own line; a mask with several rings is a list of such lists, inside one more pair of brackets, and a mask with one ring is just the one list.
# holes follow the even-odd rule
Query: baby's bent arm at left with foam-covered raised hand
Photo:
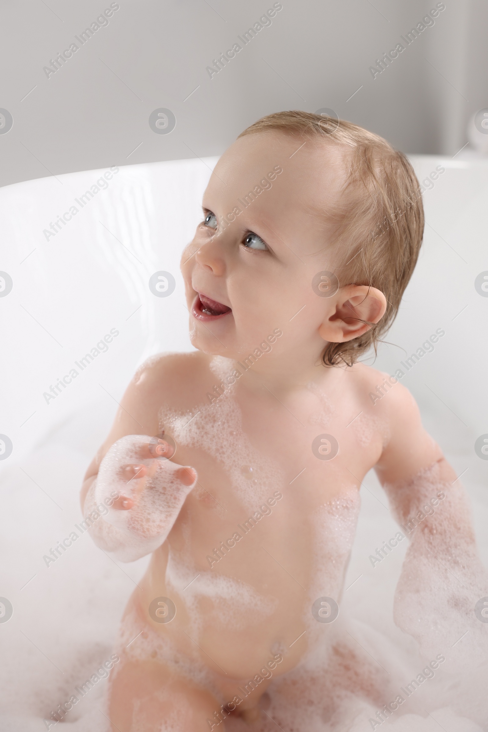
[[193, 468], [168, 459], [174, 451], [164, 436], [149, 436], [158, 429], [157, 377], [157, 370], [143, 367], [129, 384], [81, 489], [94, 542], [121, 561], [139, 559], [165, 541], [196, 480]]

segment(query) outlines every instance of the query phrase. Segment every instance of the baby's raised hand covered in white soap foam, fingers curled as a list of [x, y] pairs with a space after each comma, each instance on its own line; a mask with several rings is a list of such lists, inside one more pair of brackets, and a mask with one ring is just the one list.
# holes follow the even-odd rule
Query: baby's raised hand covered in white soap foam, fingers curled
[[97, 503], [116, 495], [105, 520], [124, 532], [162, 543], [176, 520], [197, 474], [168, 458], [170, 441], [127, 435], [110, 447], [100, 464]]

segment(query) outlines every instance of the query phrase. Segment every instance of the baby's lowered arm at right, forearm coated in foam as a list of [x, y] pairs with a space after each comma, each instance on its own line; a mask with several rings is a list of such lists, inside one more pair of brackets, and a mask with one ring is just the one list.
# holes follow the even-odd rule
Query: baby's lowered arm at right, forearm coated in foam
[[400, 530], [410, 539], [394, 619], [426, 654], [448, 649], [458, 657], [475, 651], [484, 657], [484, 628], [474, 608], [488, 595], [488, 581], [476, 550], [465, 491], [422, 427], [410, 392], [397, 384], [383, 403], [391, 437], [376, 471]]

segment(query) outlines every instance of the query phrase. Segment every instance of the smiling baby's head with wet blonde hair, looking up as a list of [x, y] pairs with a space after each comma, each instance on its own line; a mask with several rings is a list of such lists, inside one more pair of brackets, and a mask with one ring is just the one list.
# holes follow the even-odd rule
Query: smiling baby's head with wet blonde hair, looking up
[[241, 359], [278, 329], [256, 367], [353, 364], [394, 320], [423, 228], [413, 168], [383, 138], [263, 117], [219, 159], [181, 260], [193, 345]]

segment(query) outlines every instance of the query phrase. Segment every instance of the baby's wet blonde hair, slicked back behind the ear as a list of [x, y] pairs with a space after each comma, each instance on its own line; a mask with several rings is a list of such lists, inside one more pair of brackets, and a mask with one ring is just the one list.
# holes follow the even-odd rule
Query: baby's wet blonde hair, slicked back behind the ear
[[[325, 366], [353, 365], [374, 348], [397, 316], [413, 273], [424, 234], [424, 207], [412, 165], [386, 140], [352, 122], [299, 110], [269, 114], [239, 137], [279, 130], [341, 146], [348, 176], [341, 203], [323, 215], [335, 225], [329, 244], [337, 257], [339, 285], [378, 288], [386, 297], [386, 313], [378, 324], [347, 343], [324, 348]], [[324, 247], [325, 248], [325, 247]], [[367, 321], [364, 321], [367, 322]]]

